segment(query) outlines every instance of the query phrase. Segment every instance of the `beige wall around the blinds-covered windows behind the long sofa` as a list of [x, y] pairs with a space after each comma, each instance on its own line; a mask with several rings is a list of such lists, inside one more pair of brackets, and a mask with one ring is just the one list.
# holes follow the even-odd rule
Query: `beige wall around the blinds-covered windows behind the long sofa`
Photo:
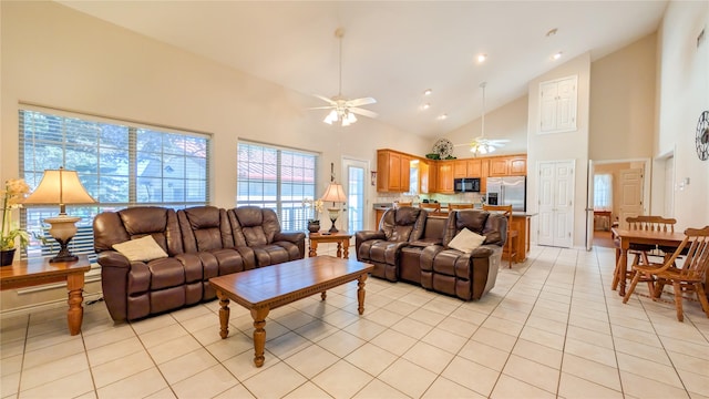
[[[318, 192], [328, 183], [330, 162], [341, 170], [342, 155], [376, 168], [378, 147], [425, 154], [431, 145], [366, 117], [349, 127], [326, 125], [325, 113], [306, 110], [317, 104], [310, 96], [54, 2], [2, 1], [0, 10], [1, 181], [18, 176], [21, 102], [213, 134], [212, 203], [223, 207], [236, 205], [238, 139], [321, 153]], [[94, 284], [88, 291], [97, 289]], [[10, 290], [1, 298], [8, 309], [65, 299], [65, 291]]]

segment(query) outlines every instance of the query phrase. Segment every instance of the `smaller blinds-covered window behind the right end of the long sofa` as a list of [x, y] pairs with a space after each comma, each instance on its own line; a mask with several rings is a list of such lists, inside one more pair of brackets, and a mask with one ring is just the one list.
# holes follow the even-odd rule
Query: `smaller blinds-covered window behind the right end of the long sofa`
[[237, 205], [276, 211], [284, 231], [307, 229], [312, 211], [304, 200], [316, 198], [317, 161], [314, 153], [239, 142]]

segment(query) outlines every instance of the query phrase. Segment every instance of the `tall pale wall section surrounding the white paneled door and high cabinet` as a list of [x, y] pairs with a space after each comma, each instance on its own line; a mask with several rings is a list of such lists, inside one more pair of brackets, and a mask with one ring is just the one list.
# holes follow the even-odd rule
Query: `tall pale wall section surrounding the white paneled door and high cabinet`
[[[577, 75], [576, 130], [566, 133], [537, 134], [540, 126], [540, 83]], [[537, 184], [540, 162], [573, 161], [575, 164], [574, 184], [574, 227], [573, 245], [585, 246], [586, 241], [586, 192], [588, 171], [588, 112], [589, 112], [590, 54], [584, 53], [532, 80], [528, 85], [527, 122], [527, 211], [537, 212]], [[532, 232], [537, 231], [537, 218], [532, 218]], [[533, 241], [536, 235], [533, 234]]]

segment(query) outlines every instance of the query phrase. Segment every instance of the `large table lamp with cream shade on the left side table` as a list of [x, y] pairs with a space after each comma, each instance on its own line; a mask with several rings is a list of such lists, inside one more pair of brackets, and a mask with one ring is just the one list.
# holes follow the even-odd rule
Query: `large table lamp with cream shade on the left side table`
[[50, 263], [78, 259], [78, 256], [69, 252], [66, 245], [76, 234], [75, 223], [81, 221], [81, 217], [66, 215], [65, 205], [93, 204], [95, 202], [79, 181], [76, 171], [66, 171], [63, 167], [44, 171], [40, 185], [24, 200], [24, 204], [59, 204], [59, 216], [44, 219], [44, 223], [52, 226], [49, 234], [56, 239], [61, 247], [59, 254], [49, 259]]

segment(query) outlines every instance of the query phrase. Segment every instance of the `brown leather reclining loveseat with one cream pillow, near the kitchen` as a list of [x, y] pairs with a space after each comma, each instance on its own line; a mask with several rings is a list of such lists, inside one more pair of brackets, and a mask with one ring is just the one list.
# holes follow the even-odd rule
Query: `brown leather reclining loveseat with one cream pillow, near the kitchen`
[[[382, 216], [379, 232], [357, 232], [358, 260], [374, 264], [372, 248], [379, 245], [381, 249], [384, 245], [382, 237], [387, 236], [384, 232], [395, 228], [391, 226], [395, 217], [388, 214], [394, 211], [411, 212], [409, 209], [415, 208], [388, 209]], [[372, 276], [390, 282], [401, 279], [464, 300], [480, 299], [495, 285], [507, 219], [503, 215], [480, 209], [454, 211], [448, 217], [431, 216], [427, 212], [422, 214], [423, 231], [398, 242], [392, 247], [398, 252], [392, 253], [382, 267], [387, 273], [372, 273]], [[448, 247], [463, 228], [485, 236], [483, 245], [470, 254]]]

